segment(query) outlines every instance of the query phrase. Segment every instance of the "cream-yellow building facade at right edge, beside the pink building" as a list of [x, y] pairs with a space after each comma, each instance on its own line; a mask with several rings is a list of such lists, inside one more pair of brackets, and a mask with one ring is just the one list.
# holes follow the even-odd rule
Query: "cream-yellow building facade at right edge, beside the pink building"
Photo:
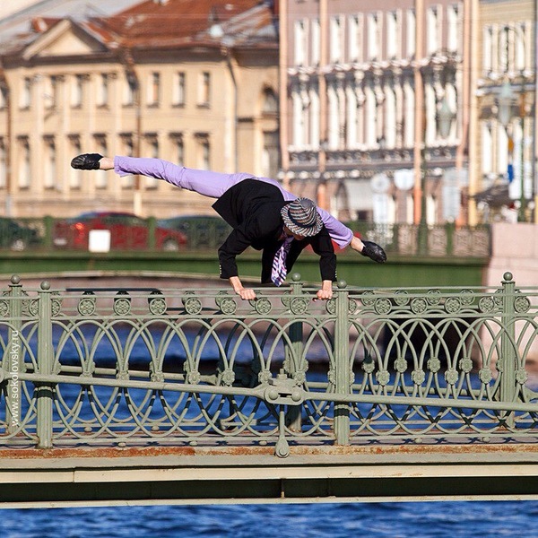
[[475, 143], [477, 221], [535, 221], [536, 47], [534, 0], [482, 0]]

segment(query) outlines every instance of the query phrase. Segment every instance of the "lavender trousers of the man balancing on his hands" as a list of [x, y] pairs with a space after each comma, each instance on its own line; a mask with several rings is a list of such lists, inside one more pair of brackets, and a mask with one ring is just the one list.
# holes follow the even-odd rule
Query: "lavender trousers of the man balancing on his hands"
[[[161, 159], [116, 156], [114, 158], [114, 171], [120, 176], [137, 174], [149, 178], [164, 179], [171, 185], [186, 188], [210, 198], [220, 198], [230, 187], [237, 185], [243, 179], [259, 179], [277, 187], [287, 202], [297, 198], [296, 195], [284, 190], [278, 181], [271, 178], [256, 178], [256, 176], [245, 173], [221, 174], [207, 170], [187, 169], [184, 166], [178, 166]], [[347, 247], [351, 243], [353, 232], [324, 209], [318, 207], [317, 213], [320, 214], [331, 239], [334, 239], [339, 247]]]

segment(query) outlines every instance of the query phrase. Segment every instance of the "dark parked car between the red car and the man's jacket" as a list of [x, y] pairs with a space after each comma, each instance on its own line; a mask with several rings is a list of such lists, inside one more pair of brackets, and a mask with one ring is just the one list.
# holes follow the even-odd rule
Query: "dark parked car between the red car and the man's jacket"
[[220, 247], [231, 231], [226, 221], [212, 215], [180, 215], [157, 221], [157, 224], [184, 233], [191, 248]]

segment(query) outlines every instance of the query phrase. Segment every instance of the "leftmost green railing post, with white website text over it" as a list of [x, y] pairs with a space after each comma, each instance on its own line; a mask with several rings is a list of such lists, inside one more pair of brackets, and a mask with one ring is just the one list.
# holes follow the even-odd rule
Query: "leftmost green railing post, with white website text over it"
[[5, 421], [7, 432], [14, 433], [21, 423], [21, 381], [22, 371], [22, 284], [21, 278], [13, 274], [11, 278], [9, 301], [8, 348], [4, 353], [4, 375], [7, 378], [5, 402]]

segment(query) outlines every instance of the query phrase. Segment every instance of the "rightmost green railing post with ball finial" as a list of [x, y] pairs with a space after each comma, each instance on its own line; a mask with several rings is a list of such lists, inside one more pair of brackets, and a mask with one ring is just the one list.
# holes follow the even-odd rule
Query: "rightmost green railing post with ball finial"
[[[502, 281], [502, 333], [500, 337], [501, 356], [497, 360], [497, 369], [500, 372], [500, 401], [513, 402], [516, 396], [516, 319], [514, 308], [514, 292], [516, 282], [512, 273], [504, 273]], [[514, 425], [514, 413], [502, 412], [508, 426]]]

